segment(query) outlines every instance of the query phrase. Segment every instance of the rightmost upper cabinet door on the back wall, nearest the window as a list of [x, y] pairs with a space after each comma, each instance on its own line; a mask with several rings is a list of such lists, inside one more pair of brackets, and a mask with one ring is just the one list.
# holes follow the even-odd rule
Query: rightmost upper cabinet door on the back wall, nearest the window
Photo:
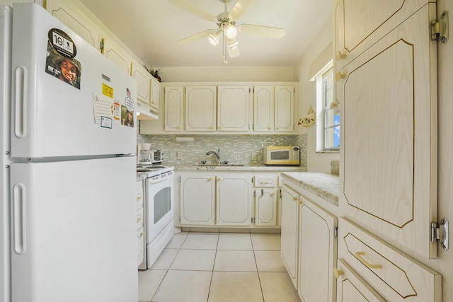
[[294, 131], [294, 86], [275, 86], [275, 132]]

